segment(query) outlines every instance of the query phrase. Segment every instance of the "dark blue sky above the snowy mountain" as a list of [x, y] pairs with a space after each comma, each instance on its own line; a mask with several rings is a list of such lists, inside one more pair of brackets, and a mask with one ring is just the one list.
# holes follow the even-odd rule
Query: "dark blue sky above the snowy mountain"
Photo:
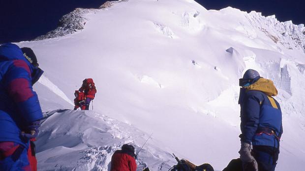
[[[106, 0], [0, 0], [0, 43], [34, 39], [57, 27], [61, 16], [77, 7], [97, 8]], [[305, 24], [305, 0], [196, 0], [207, 9], [227, 6], [279, 21]]]

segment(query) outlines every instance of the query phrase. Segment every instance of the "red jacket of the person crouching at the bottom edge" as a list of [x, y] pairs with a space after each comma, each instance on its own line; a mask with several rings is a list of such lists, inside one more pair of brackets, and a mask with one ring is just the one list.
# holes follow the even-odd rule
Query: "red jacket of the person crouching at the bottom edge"
[[136, 171], [136, 159], [129, 154], [117, 150], [111, 157], [110, 171]]

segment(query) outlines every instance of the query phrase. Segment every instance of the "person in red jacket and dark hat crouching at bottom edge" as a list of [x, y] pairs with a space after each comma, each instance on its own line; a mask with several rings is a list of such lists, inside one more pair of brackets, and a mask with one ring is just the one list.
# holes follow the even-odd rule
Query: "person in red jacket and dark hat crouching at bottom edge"
[[136, 171], [134, 147], [124, 144], [121, 150], [116, 150], [111, 157], [110, 171]]

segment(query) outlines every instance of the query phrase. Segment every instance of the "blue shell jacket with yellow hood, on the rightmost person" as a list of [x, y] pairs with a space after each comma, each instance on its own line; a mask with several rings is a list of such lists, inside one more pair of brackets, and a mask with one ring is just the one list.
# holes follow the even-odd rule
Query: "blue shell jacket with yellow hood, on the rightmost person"
[[[239, 103], [241, 105], [241, 141], [254, 146], [279, 146], [283, 133], [282, 113], [273, 81], [259, 78], [253, 84], [243, 87]], [[267, 128], [273, 134], [259, 130]]]

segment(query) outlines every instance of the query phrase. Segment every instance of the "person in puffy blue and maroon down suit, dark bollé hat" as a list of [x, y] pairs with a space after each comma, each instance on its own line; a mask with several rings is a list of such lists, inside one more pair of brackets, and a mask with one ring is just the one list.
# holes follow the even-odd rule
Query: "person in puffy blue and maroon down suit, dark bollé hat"
[[42, 111], [32, 85], [42, 73], [30, 48], [0, 46], [0, 171], [36, 171]]

